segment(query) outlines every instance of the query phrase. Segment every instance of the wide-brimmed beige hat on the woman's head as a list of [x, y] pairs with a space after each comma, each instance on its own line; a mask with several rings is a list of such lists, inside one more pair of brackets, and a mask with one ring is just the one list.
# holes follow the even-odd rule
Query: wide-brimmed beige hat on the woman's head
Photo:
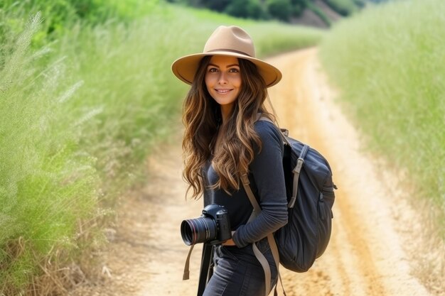
[[252, 38], [237, 26], [220, 26], [210, 35], [205, 43], [203, 53], [186, 55], [174, 61], [171, 65], [173, 74], [187, 84], [192, 84], [200, 60], [205, 55], [229, 55], [250, 60], [259, 70], [267, 87], [277, 84], [282, 79], [282, 72], [276, 67], [255, 58], [255, 48]]

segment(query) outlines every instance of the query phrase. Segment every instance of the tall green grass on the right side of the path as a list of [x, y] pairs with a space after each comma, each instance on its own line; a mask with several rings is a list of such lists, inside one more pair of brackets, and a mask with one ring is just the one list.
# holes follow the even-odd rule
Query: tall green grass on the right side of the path
[[[442, 240], [444, 11], [441, 0], [375, 6], [339, 23], [321, 45], [323, 65], [341, 89], [350, 115], [367, 135], [368, 147], [407, 172], [407, 192], [414, 187], [413, 199], [430, 204], [426, 216], [433, 216], [435, 235]], [[445, 260], [434, 262], [443, 273]]]

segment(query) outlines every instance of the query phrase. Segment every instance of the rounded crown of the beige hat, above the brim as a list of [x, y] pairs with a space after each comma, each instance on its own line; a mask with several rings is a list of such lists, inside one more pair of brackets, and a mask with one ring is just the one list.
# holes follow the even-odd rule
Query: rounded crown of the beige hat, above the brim
[[207, 40], [204, 53], [231, 51], [255, 57], [252, 38], [237, 26], [219, 26]]

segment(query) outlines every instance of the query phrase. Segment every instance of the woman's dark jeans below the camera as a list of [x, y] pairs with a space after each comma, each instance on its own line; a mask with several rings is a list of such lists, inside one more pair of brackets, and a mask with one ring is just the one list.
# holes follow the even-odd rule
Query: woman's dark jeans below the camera
[[[271, 285], [277, 283], [277, 267], [267, 239], [257, 243], [269, 261]], [[203, 296], [265, 296], [264, 270], [255, 257], [252, 245], [245, 248], [216, 246], [213, 251], [215, 269]]]

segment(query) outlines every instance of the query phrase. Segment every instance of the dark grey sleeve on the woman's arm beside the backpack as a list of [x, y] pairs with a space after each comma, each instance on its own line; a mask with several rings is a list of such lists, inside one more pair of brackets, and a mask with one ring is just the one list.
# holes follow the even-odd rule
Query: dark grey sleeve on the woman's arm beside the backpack
[[236, 229], [232, 239], [239, 248], [263, 239], [287, 223], [282, 138], [278, 128], [268, 121], [257, 121], [254, 128], [261, 138], [262, 149], [259, 152], [257, 149], [250, 164], [249, 178], [262, 212]]

